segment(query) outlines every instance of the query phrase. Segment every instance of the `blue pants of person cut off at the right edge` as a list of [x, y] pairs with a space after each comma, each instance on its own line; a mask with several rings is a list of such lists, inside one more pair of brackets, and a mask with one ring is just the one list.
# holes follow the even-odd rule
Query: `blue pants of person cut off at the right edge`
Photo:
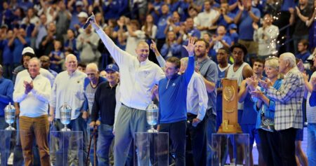
[[316, 123], [308, 123], [308, 165], [316, 165]]

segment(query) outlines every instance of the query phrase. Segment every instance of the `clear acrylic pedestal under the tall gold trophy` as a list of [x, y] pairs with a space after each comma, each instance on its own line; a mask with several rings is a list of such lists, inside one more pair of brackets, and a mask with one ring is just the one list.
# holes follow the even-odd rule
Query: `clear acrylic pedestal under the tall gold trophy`
[[212, 134], [212, 165], [249, 165], [249, 134]]

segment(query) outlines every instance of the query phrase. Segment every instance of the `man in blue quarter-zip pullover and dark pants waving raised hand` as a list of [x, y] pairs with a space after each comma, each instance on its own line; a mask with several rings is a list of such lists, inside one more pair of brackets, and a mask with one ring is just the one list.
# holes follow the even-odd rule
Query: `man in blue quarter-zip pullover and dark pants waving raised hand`
[[184, 46], [189, 54], [185, 74], [179, 75], [180, 60], [169, 57], [164, 73], [166, 78], [159, 81], [159, 132], [169, 132], [171, 146], [176, 154], [176, 165], [185, 165], [185, 131], [187, 120], [187, 85], [195, 69], [194, 39]]

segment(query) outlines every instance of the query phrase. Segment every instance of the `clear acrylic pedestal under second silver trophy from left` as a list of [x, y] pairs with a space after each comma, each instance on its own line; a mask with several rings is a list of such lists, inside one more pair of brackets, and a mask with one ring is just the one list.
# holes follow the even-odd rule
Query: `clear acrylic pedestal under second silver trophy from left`
[[79, 131], [51, 131], [51, 165], [84, 165], [83, 134]]

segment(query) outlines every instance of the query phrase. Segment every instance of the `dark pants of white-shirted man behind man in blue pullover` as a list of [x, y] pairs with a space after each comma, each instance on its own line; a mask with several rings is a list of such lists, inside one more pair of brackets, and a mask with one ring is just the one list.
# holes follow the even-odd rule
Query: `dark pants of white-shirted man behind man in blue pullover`
[[[192, 125], [192, 120], [196, 115], [187, 114], [187, 133], [190, 137], [193, 162], [195, 166], [206, 165], [206, 132], [205, 132], [205, 118], [196, 126]], [[189, 147], [187, 147], [189, 148]]]

